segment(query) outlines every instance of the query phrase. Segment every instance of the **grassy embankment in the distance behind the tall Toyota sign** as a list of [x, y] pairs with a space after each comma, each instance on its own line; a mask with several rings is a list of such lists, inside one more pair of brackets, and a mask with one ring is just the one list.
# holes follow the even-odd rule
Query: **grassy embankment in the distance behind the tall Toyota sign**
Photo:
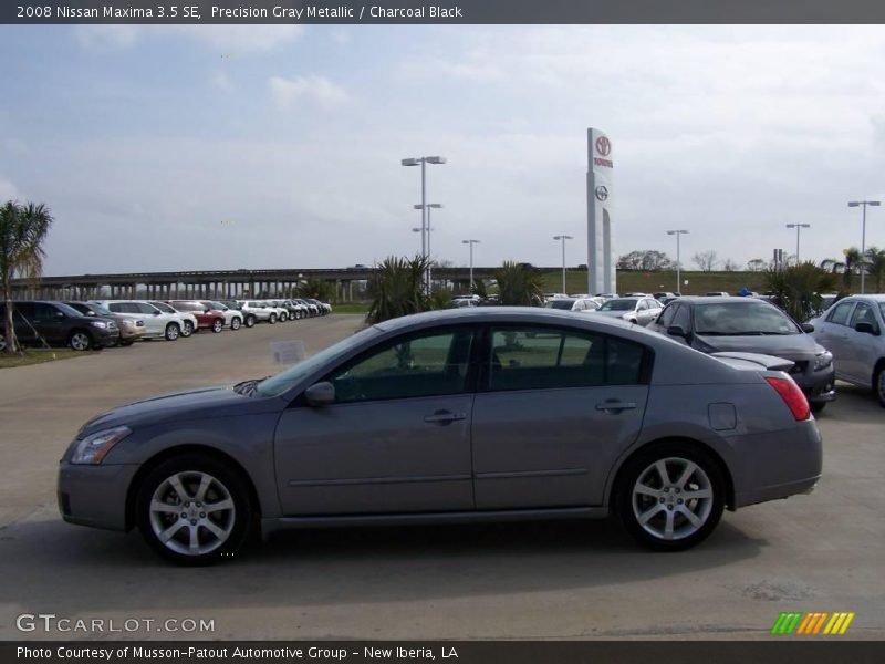
[[[711, 291], [725, 291], [735, 294], [745, 286], [751, 291], [763, 292], [763, 272], [695, 272], [683, 271], [681, 273], [684, 295], [702, 295]], [[688, 284], [685, 281], [688, 280]], [[562, 273], [550, 273], [543, 276], [544, 292], [560, 292], [562, 289]], [[566, 270], [565, 290], [569, 293], [587, 292], [587, 273], [579, 270]], [[676, 290], [676, 272], [634, 272], [627, 270], [617, 271], [617, 292], [644, 292], [653, 293], [656, 291]], [[594, 293], [590, 293], [591, 295]]]

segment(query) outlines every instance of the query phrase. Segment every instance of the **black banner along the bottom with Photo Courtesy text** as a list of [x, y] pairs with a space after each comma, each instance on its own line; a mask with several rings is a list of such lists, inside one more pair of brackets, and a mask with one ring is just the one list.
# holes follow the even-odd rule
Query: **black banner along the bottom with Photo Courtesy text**
[[45, 664], [876, 664], [877, 641], [210, 641], [4, 642], [0, 662]]

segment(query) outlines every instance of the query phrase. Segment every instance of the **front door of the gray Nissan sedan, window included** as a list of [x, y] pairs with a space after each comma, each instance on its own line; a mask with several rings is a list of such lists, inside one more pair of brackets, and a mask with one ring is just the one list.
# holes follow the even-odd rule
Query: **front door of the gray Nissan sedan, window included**
[[325, 376], [334, 403], [296, 398], [274, 440], [283, 512], [472, 509], [473, 336], [459, 326], [381, 342]]

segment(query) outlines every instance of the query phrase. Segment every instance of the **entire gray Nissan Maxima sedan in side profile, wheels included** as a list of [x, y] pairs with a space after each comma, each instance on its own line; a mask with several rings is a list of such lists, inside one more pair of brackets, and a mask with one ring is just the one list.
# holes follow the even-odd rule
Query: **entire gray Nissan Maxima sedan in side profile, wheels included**
[[555, 310], [433, 312], [261, 381], [122, 406], [61, 461], [66, 521], [205, 563], [292, 527], [616, 513], [686, 549], [806, 492], [821, 437], [790, 363]]

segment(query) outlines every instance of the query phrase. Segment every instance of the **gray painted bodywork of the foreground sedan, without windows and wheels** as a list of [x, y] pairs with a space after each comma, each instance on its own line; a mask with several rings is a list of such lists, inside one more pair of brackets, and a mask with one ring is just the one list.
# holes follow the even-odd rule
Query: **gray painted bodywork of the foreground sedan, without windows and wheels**
[[[509, 323], [632, 340], [654, 353], [654, 370], [643, 385], [299, 404], [306, 387], [376, 343], [440, 325]], [[719, 460], [728, 478], [727, 505], [735, 509], [805, 492], [820, 477], [816, 423], [795, 421], [766, 382], [783, 375], [764, 362], [717, 360], [602, 317], [529, 308], [418, 314], [352, 338], [350, 347], [280, 396], [210, 387], [95, 417], [77, 439], [121, 425], [132, 434], [100, 465], [71, 464], [72, 443], [61, 460], [60, 506], [67, 521], [128, 529], [133, 489], [149, 463], [201, 450], [248, 476], [266, 533], [350, 522], [604, 517], [631, 455], [655, 442], [683, 439]], [[593, 406], [611, 400], [638, 407]], [[447, 426], [421, 417], [440, 408], [467, 416]]]

